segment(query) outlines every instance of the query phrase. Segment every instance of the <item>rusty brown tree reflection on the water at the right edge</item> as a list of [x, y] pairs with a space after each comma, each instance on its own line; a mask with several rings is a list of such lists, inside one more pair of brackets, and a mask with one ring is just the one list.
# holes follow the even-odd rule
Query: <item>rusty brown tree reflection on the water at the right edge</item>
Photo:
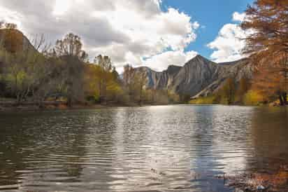
[[252, 170], [274, 170], [288, 165], [288, 113], [285, 108], [255, 109], [249, 135]]

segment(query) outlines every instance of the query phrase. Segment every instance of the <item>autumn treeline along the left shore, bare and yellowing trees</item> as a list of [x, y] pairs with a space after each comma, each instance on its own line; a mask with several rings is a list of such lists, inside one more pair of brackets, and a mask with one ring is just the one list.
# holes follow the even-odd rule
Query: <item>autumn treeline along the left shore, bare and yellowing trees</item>
[[43, 36], [30, 42], [13, 24], [0, 29], [0, 97], [15, 104], [45, 101], [73, 104], [170, 104], [178, 95], [146, 89], [145, 74], [127, 64], [120, 77], [110, 57], [89, 62], [79, 36], [67, 34], [48, 46]]

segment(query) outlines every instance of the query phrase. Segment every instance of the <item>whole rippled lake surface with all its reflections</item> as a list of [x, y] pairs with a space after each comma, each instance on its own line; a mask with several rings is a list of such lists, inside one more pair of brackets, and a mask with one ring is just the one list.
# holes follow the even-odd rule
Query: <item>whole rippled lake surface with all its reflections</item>
[[282, 108], [0, 114], [0, 191], [233, 191], [217, 174], [288, 165]]

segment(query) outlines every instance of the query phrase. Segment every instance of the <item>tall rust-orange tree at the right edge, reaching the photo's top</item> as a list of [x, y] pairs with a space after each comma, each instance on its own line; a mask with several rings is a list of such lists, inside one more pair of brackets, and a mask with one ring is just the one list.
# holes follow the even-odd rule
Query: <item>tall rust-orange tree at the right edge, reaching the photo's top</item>
[[244, 53], [252, 55], [256, 83], [268, 95], [277, 94], [280, 104], [287, 104], [288, 1], [257, 0], [246, 15], [241, 27], [252, 33]]

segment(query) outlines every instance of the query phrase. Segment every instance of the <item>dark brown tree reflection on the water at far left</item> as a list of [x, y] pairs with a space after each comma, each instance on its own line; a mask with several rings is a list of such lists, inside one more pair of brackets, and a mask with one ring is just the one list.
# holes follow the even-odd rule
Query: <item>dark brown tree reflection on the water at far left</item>
[[[85, 117], [73, 111], [59, 113], [10, 114], [3, 118], [0, 178], [8, 176], [9, 180], [0, 179], [0, 185], [20, 181], [23, 187], [37, 186], [45, 181], [61, 181], [62, 177], [80, 177], [80, 160], [85, 156]], [[51, 169], [57, 172], [49, 172]]]

